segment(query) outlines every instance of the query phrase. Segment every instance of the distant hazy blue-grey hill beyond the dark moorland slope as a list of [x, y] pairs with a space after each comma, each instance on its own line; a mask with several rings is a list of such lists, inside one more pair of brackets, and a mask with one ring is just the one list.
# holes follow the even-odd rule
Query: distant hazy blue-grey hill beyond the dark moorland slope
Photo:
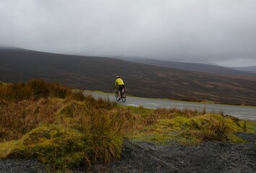
[[126, 61], [211, 74], [255, 76], [255, 74], [250, 73], [250, 71], [244, 70], [242, 68], [228, 68], [223, 66], [217, 66], [214, 64], [183, 63], [174, 61], [155, 60], [150, 58], [127, 58]]

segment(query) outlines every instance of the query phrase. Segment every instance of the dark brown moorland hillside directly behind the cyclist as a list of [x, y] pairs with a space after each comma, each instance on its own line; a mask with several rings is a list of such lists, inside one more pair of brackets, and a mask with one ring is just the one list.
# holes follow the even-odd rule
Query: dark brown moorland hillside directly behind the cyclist
[[115, 58], [0, 49], [0, 81], [46, 79], [78, 89], [113, 91], [117, 75], [139, 97], [256, 105], [255, 76], [224, 76]]

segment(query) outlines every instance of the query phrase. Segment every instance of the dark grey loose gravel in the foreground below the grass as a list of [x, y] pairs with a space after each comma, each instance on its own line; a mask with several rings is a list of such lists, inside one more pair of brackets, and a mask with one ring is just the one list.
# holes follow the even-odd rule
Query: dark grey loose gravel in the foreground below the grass
[[[184, 146], [170, 142], [155, 143], [124, 141], [121, 159], [109, 168], [97, 164], [90, 172], [256, 172], [256, 134], [236, 133], [249, 143], [231, 144], [211, 141]], [[0, 161], [0, 172], [46, 172], [35, 160], [7, 159]], [[85, 167], [77, 169], [85, 172]]]

